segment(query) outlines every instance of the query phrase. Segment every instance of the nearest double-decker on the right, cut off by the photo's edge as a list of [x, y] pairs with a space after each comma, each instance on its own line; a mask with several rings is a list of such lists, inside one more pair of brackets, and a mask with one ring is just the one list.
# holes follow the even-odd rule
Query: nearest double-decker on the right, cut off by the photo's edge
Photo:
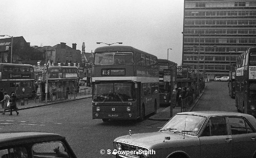
[[236, 107], [256, 116], [256, 47], [236, 57]]

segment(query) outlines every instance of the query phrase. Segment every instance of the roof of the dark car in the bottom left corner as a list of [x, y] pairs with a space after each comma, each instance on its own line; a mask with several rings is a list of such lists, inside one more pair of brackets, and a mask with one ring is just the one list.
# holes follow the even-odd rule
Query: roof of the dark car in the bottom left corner
[[43, 132], [17, 132], [17, 133], [0, 133], [0, 147], [39, 142], [45, 140], [60, 140], [65, 137], [55, 133]]

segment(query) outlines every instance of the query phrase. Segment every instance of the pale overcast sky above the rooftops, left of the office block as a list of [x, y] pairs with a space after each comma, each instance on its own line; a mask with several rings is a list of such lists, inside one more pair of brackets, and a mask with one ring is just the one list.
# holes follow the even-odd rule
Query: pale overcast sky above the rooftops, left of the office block
[[[183, 0], [1, 0], [0, 34], [23, 36], [31, 46], [94, 52], [96, 42], [123, 42], [181, 64]], [[3, 37], [1, 37], [3, 38]], [[116, 44], [117, 45], [117, 44]]]

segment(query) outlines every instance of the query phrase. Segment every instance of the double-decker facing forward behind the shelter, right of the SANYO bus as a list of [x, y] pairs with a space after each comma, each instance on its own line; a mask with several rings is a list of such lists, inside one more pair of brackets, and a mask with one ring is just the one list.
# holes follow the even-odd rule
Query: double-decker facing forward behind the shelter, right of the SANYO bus
[[[49, 67], [49, 94], [65, 98], [66, 93], [75, 93], [78, 87], [78, 69], [75, 66]], [[43, 91], [43, 90], [42, 90]]]

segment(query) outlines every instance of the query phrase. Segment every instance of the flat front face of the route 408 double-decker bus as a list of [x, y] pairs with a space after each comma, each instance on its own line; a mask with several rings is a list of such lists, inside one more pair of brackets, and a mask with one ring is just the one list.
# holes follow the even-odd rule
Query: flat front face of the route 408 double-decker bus
[[137, 83], [130, 47], [99, 47], [92, 68], [92, 119], [137, 119]]

